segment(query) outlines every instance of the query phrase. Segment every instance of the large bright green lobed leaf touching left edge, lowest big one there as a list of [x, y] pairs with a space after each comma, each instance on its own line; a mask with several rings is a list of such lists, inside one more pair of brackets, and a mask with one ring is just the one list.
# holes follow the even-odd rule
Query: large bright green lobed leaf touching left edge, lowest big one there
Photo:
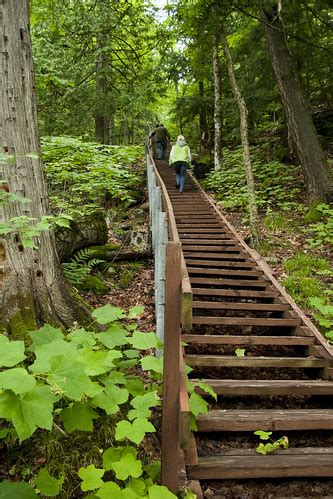
[[50, 430], [53, 423], [53, 404], [57, 397], [48, 386], [37, 385], [24, 395], [11, 390], [0, 393], [0, 418], [11, 421], [22, 442], [39, 428]]

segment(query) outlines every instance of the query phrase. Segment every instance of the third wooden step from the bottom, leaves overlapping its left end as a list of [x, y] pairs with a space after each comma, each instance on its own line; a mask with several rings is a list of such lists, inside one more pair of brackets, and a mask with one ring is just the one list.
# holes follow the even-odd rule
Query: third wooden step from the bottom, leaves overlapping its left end
[[[196, 384], [196, 380], [191, 380]], [[215, 393], [224, 397], [247, 396], [303, 396], [333, 395], [333, 381], [323, 380], [252, 380], [252, 379], [203, 379]], [[195, 391], [201, 395], [205, 392], [198, 386]]]

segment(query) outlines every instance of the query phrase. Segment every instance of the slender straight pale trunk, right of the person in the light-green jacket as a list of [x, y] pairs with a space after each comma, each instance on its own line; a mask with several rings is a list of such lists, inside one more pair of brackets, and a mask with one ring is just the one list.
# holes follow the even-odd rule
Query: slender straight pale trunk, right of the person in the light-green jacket
[[218, 35], [213, 34], [213, 75], [214, 75], [214, 168], [222, 166], [222, 109], [221, 109], [221, 76], [219, 61]]

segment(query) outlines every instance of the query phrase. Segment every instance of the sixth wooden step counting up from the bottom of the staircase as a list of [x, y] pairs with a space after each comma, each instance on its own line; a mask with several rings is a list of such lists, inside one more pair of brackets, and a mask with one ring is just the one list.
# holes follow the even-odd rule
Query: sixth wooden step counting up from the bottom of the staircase
[[296, 327], [301, 323], [301, 319], [266, 319], [262, 317], [208, 317], [194, 315], [192, 318], [192, 324], [220, 326]]

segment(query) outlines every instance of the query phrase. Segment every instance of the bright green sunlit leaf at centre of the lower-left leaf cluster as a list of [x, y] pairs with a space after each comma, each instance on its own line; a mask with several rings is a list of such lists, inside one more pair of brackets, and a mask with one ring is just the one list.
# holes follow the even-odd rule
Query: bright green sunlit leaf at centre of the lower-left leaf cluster
[[86, 366], [70, 356], [58, 355], [51, 359], [47, 382], [57, 391], [73, 400], [80, 400], [95, 390], [89, 376], [85, 374]]

